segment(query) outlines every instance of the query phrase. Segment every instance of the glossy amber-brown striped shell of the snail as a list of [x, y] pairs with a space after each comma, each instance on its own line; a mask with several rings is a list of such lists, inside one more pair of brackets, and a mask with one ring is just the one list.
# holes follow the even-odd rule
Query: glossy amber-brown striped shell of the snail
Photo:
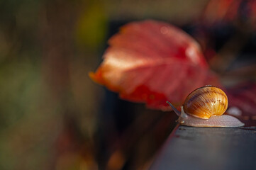
[[228, 108], [228, 97], [216, 86], [203, 86], [187, 96], [184, 112], [196, 118], [208, 119], [212, 115], [222, 115]]

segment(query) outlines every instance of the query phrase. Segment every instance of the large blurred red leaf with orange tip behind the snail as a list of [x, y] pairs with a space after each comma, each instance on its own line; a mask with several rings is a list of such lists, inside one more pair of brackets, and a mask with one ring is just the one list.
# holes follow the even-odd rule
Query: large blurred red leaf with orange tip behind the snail
[[200, 86], [220, 86], [197, 42], [167, 23], [128, 23], [108, 43], [104, 62], [89, 75], [123, 99], [165, 110], [167, 100], [181, 105]]

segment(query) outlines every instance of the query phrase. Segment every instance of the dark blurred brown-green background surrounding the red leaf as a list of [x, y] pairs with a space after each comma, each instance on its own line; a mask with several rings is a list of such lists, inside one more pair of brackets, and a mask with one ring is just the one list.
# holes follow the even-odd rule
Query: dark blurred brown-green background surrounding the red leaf
[[233, 92], [240, 95], [256, 91], [255, 8], [239, 0], [1, 0], [0, 169], [148, 169], [176, 117], [89, 79], [108, 38], [129, 21], [179, 26], [230, 93], [243, 87]]

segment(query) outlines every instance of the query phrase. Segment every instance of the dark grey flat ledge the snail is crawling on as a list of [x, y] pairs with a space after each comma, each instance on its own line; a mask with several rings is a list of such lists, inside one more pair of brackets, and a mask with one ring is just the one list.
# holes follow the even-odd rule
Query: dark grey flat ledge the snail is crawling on
[[179, 126], [150, 169], [256, 169], [256, 128]]

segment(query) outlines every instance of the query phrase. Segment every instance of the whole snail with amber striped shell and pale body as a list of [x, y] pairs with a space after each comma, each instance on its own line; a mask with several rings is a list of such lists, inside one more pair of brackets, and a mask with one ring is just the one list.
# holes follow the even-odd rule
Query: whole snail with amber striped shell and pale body
[[181, 112], [169, 101], [167, 103], [179, 116], [177, 121], [181, 125], [223, 128], [245, 125], [231, 115], [223, 115], [228, 108], [228, 97], [216, 86], [203, 86], [192, 91], [181, 106]]

